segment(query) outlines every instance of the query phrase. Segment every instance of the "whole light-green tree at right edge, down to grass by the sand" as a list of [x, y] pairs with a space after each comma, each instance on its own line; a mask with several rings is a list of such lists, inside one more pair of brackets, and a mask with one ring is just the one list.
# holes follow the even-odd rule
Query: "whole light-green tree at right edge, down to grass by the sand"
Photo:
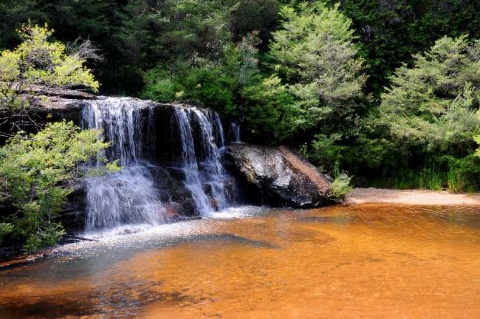
[[[412, 66], [399, 67], [382, 94], [378, 122], [397, 156], [385, 176], [404, 187], [478, 189], [473, 136], [480, 130], [479, 41], [443, 37]], [[391, 186], [391, 185], [390, 185]]]

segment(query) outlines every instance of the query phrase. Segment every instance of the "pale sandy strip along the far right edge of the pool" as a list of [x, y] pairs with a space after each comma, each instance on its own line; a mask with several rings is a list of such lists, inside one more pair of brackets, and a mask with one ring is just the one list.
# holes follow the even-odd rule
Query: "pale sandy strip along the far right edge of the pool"
[[345, 198], [345, 203], [404, 204], [404, 205], [479, 205], [480, 194], [451, 194], [446, 191], [391, 190], [355, 188]]

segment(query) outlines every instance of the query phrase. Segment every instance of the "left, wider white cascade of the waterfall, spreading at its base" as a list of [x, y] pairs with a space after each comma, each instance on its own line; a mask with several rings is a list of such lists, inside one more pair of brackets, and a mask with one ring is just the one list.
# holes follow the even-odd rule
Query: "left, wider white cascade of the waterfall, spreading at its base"
[[140, 161], [145, 142], [142, 110], [152, 113], [147, 103], [128, 98], [92, 101], [83, 110], [84, 126], [103, 131], [111, 144], [107, 157], [117, 159], [123, 167], [119, 172], [87, 180], [87, 231], [165, 222], [165, 209], [148, 163]]

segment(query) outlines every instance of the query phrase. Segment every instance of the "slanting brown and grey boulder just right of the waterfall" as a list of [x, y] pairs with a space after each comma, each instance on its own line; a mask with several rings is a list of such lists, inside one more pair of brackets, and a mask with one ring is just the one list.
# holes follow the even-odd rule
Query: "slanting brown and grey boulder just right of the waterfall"
[[233, 144], [227, 156], [250, 193], [266, 204], [309, 208], [328, 202], [330, 181], [286, 147]]

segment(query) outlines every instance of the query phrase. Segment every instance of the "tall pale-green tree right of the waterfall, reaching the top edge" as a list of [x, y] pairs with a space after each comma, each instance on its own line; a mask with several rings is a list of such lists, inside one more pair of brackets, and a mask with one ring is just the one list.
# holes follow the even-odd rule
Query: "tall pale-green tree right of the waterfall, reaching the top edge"
[[283, 23], [273, 33], [270, 54], [305, 117], [303, 128], [347, 119], [365, 83], [351, 21], [338, 6], [328, 8], [320, 1], [283, 7], [280, 14]]

